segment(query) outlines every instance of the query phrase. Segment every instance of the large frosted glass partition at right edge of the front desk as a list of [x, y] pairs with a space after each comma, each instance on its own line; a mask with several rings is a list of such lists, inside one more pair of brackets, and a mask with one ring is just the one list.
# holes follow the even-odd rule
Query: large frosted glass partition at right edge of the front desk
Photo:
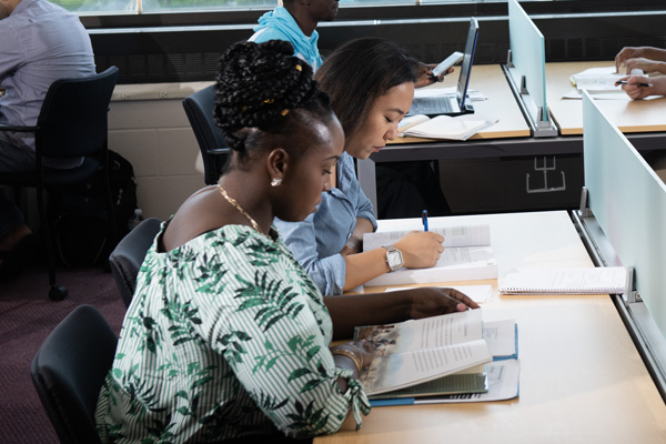
[[583, 144], [589, 209], [666, 336], [666, 185], [587, 92]]

